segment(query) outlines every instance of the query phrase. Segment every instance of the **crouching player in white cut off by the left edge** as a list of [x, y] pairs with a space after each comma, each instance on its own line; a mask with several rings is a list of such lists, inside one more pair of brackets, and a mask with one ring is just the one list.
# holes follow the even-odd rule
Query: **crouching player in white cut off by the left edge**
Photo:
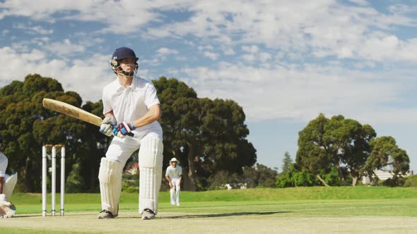
[[[0, 150], [3, 145], [3, 136], [0, 134]], [[17, 173], [11, 176], [6, 174], [8, 159], [0, 152], [0, 218], [11, 218], [16, 212], [16, 207], [8, 202], [18, 180]]]

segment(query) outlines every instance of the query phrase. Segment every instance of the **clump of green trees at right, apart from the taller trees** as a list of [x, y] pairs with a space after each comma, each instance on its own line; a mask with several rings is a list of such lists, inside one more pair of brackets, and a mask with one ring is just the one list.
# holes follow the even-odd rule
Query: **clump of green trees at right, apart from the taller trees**
[[287, 164], [276, 185], [355, 186], [362, 176], [377, 184], [377, 170], [392, 174], [387, 185], [402, 185], [409, 163], [394, 137], [377, 137], [372, 126], [341, 115], [326, 118], [320, 114], [300, 131], [295, 164]]

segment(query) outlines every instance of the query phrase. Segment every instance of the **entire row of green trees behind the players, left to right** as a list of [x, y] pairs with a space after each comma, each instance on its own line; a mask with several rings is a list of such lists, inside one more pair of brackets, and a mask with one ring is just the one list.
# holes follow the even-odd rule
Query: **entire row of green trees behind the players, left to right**
[[[199, 98], [175, 78], [152, 81], [163, 111], [164, 169], [172, 157], [180, 160], [184, 190], [220, 189], [225, 184], [235, 188], [357, 185], [362, 176], [377, 183], [375, 170], [391, 171], [390, 182], [399, 185], [409, 171], [409, 156], [394, 137], [377, 137], [370, 125], [320, 114], [300, 131], [295, 162], [286, 152], [278, 173], [277, 168], [256, 164], [245, 113], [235, 101]], [[2, 87], [0, 133], [8, 171], [19, 173], [18, 189], [40, 192], [42, 144], [65, 144], [66, 192], [98, 192], [100, 159], [112, 138], [98, 133], [94, 125], [43, 108], [45, 97], [103, 117], [101, 100], [83, 102], [53, 78], [27, 75], [23, 82], [14, 80]], [[137, 154], [127, 166], [135, 162]]]

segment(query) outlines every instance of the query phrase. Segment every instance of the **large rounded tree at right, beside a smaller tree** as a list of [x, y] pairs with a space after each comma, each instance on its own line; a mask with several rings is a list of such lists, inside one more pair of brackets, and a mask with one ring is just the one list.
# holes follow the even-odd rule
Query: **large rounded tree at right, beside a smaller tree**
[[351, 183], [356, 185], [370, 155], [370, 141], [375, 136], [370, 125], [343, 116], [329, 119], [320, 114], [299, 133], [297, 166], [315, 173], [324, 185], [327, 183], [319, 172], [329, 173], [334, 167], [343, 185], [348, 184], [346, 173], [350, 173]]

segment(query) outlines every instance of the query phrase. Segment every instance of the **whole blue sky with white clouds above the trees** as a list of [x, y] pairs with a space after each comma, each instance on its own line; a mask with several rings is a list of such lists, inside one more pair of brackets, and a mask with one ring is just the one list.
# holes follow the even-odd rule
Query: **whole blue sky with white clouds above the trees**
[[243, 106], [259, 163], [325, 113], [392, 135], [417, 171], [416, 0], [0, 0], [0, 87], [40, 73], [98, 101], [122, 46], [143, 78]]

